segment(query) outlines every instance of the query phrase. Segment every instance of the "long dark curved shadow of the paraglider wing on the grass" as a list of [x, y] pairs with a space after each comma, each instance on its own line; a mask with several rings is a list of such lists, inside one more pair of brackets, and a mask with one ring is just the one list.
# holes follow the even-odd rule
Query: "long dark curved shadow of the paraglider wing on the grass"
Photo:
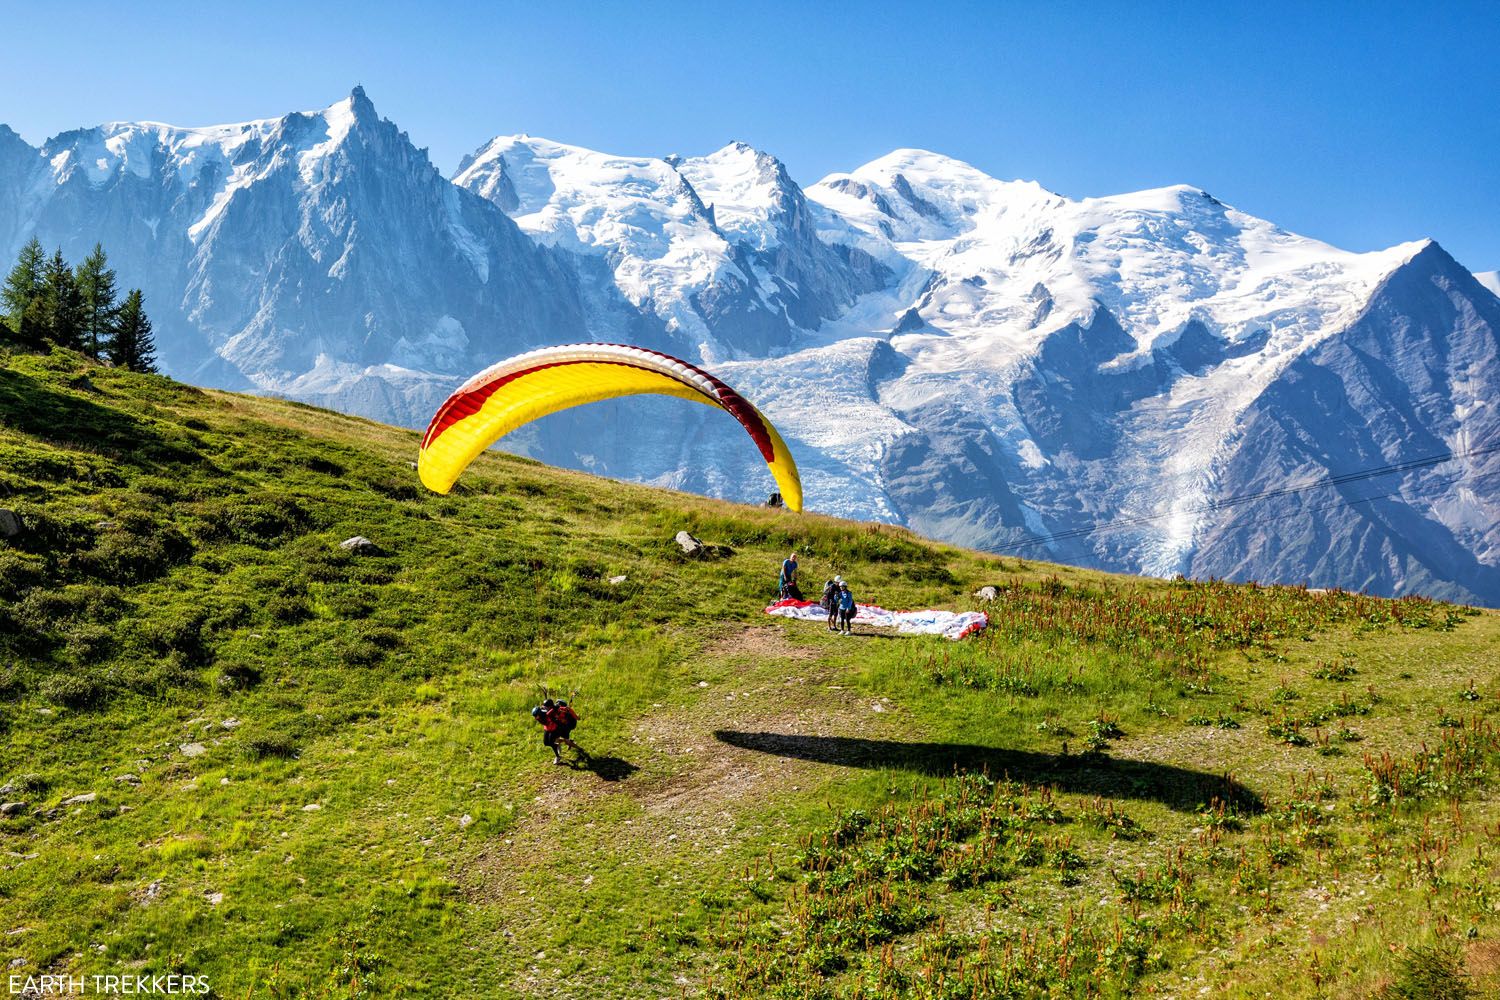
[[1215, 798], [1245, 813], [1260, 813], [1264, 808], [1258, 795], [1226, 775], [1106, 754], [1046, 754], [976, 744], [908, 744], [860, 736], [734, 730], [716, 730], [714, 736], [741, 750], [844, 768], [891, 768], [939, 778], [958, 771], [981, 771], [992, 778], [1050, 784], [1058, 792], [1149, 799], [1185, 811], [1197, 810]]

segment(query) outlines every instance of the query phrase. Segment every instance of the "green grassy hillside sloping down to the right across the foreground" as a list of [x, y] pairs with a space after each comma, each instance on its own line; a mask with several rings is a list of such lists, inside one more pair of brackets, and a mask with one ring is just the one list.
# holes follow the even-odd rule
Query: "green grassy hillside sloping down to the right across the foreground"
[[[998, 559], [504, 454], [440, 498], [416, 442], [0, 357], [0, 508], [24, 522], [0, 540], [8, 975], [1500, 988], [1500, 615]], [[996, 585], [993, 627], [766, 619], [790, 547], [886, 606]], [[550, 766], [540, 684], [578, 690], [591, 763]]]

